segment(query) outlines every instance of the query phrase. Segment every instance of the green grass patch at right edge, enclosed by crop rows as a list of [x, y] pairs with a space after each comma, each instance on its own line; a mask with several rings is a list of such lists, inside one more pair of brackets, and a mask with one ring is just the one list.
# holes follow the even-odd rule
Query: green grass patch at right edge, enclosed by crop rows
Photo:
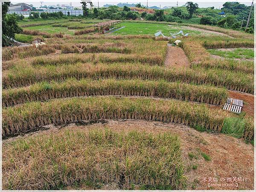
[[254, 50], [246, 48], [236, 48], [231, 50], [218, 50], [218, 49], [208, 49], [208, 52], [212, 55], [218, 55], [225, 58], [254, 58]]

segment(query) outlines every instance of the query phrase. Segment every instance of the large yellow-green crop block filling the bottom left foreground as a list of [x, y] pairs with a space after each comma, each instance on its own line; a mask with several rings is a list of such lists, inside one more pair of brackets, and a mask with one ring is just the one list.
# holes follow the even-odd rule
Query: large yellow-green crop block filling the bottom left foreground
[[170, 133], [66, 130], [3, 146], [3, 189], [181, 189], [184, 182], [180, 139]]

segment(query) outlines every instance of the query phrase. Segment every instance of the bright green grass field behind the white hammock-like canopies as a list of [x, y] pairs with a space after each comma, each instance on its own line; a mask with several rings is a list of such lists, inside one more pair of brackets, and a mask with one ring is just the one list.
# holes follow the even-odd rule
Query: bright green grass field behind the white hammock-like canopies
[[171, 36], [170, 33], [177, 33], [183, 30], [184, 33], [189, 33], [189, 35], [200, 34], [199, 31], [193, 31], [186, 29], [186, 26], [170, 26], [167, 24], [152, 24], [152, 23], [132, 23], [132, 22], [122, 22], [121, 26], [125, 28], [120, 29], [112, 34], [120, 35], [154, 35], [156, 32], [161, 31], [163, 35]]

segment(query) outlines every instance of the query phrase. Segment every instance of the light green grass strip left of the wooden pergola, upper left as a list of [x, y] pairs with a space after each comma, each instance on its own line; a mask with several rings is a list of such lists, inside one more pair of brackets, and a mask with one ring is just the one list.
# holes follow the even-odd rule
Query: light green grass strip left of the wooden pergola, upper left
[[25, 29], [29, 30], [39, 30], [41, 32], [48, 32], [48, 33], [63, 33], [63, 34], [69, 34], [69, 35], [74, 35], [74, 32], [77, 29], [67, 29], [64, 27], [53, 27], [52, 25], [43, 25], [43, 26], [31, 26], [31, 27], [26, 27]]

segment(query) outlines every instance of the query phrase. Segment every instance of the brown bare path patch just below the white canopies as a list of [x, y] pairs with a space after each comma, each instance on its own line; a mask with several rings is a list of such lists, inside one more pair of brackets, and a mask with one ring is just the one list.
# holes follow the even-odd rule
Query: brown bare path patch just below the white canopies
[[183, 49], [177, 46], [168, 46], [164, 65], [168, 68], [172, 67], [189, 67], [189, 60]]

